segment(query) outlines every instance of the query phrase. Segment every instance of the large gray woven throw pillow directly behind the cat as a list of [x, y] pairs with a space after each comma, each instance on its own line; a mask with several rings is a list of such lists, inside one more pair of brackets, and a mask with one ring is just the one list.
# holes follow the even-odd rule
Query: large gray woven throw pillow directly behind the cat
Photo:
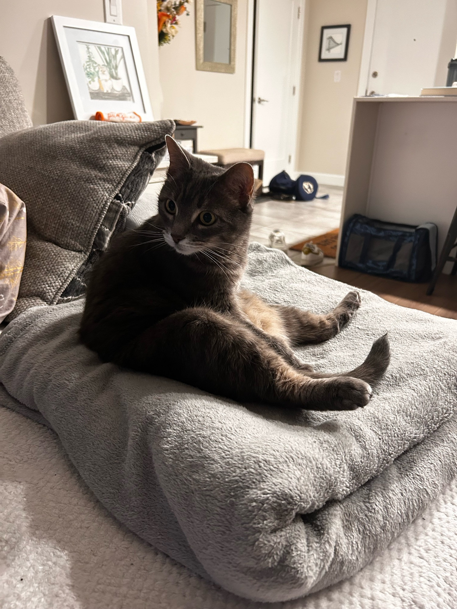
[[66, 121], [0, 138], [0, 183], [24, 201], [27, 248], [18, 301], [30, 306], [81, 297], [94, 262], [165, 153], [174, 121]]

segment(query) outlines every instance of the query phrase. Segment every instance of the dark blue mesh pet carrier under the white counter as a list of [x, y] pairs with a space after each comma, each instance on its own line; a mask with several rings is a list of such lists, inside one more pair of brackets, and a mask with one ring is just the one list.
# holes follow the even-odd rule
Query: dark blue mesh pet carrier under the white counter
[[360, 214], [344, 225], [339, 266], [402, 281], [428, 281], [436, 266], [438, 228], [371, 220]]

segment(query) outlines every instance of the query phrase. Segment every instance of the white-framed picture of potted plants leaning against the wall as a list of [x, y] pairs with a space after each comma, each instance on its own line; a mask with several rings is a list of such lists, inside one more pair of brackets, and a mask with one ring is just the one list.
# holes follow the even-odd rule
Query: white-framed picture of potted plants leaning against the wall
[[134, 27], [52, 16], [74, 118], [136, 112], [154, 121]]

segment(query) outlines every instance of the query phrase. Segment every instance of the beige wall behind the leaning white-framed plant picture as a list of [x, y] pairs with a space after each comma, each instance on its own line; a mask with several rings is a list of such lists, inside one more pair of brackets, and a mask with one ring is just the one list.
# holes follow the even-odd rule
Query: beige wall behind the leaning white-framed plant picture
[[[136, 29], [155, 118], [160, 118], [157, 13], [153, 0], [124, 0], [124, 25]], [[103, 0], [0, 0], [0, 55], [12, 66], [35, 125], [73, 118], [49, 17], [104, 21]]]

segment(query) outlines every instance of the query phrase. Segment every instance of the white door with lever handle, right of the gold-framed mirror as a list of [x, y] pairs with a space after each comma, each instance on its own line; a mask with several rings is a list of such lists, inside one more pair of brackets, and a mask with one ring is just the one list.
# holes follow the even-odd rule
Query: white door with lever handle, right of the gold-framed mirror
[[304, 0], [257, 0], [252, 148], [264, 150], [263, 183], [295, 167]]

